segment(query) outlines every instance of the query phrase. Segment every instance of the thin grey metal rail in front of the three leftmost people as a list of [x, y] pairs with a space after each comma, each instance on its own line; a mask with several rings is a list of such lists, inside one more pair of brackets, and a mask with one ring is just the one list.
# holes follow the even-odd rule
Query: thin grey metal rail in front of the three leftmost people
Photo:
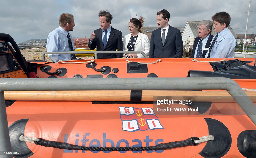
[[97, 59], [97, 54], [124, 54], [124, 53], [134, 53], [142, 54], [145, 58], [148, 56], [143, 51], [79, 51], [79, 52], [44, 52], [42, 53], [42, 60], [45, 61], [45, 54], [94, 54], [94, 58]]

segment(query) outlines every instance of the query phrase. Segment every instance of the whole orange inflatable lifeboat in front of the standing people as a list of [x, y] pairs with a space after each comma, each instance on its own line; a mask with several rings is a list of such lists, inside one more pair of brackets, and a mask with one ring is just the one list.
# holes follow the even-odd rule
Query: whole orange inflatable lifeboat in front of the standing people
[[[11, 147], [3, 154], [255, 157], [252, 58], [26, 62], [12, 38], [0, 40], [7, 48], [0, 90]], [[8, 149], [5, 141], [0, 149]]]

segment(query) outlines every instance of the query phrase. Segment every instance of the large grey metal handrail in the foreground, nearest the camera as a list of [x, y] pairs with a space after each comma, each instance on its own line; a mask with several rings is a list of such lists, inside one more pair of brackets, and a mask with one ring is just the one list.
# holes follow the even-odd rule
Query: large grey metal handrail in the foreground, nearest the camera
[[[58, 84], [56, 84], [58, 82]], [[86, 84], [85, 84], [86, 83]], [[114, 83], [114, 86], [113, 86]], [[33, 85], [33, 86], [31, 86]], [[65, 86], [59, 86], [65, 85]], [[4, 91], [30, 90], [227, 90], [256, 125], [256, 106], [229, 78], [20, 78], [0, 80], [0, 151], [11, 151]]]

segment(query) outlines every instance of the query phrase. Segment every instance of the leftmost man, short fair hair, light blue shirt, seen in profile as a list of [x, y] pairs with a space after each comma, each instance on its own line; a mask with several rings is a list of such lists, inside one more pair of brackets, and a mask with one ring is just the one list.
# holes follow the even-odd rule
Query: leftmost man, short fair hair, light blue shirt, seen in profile
[[[73, 38], [69, 31], [73, 31], [75, 23], [74, 16], [68, 13], [63, 13], [59, 17], [59, 27], [51, 31], [47, 38], [47, 52], [69, 52], [74, 51]], [[70, 38], [71, 43], [69, 46], [68, 38]], [[73, 50], [72, 50], [73, 48]], [[48, 54], [53, 62], [57, 63], [59, 61], [71, 60], [71, 54]], [[75, 55], [73, 55], [75, 58]]]

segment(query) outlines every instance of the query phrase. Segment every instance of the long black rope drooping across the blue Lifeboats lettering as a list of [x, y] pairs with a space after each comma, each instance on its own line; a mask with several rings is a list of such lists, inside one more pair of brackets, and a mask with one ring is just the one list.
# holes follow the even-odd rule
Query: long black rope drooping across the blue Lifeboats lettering
[[199, 140], [197, 137], [191, 137], [186, 140], [169, 142], [169, 143], [161, 143], [155, 146], [149, 147], [83, 147], [80, 145], [72, 145], [69, 143], [61, 143], [56, 141], [44, 140], [42, 138], [38, 138], [39, 141], [35, 141], [36, 145], [42, 145], [44, 147], [53, 147], [59, 149], [67, 149], [67, 150], [89, 150], [89, 151], [145, 151], [145, 150], [166, 150], [178, 147], [185, 147], [188, 145], [197, 145], [194, 140]]

